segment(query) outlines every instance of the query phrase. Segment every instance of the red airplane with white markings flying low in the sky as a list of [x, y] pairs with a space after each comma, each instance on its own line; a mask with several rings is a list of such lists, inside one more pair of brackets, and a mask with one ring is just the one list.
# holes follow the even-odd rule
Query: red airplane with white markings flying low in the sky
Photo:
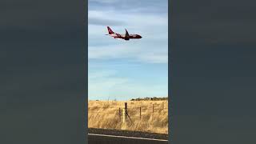
[[126, 30], [126, 34], [114, 33], [114, 31], [110, 29], [110, 26], [106, 26], [106, 27], [107, 27], [107, 30], [109, 31], [109, 34], [106, 34], [106, 35], [109, 35], [110, 37], [113, 37], [113, 38], [121, 38], [126, 41], [129, 41], [129, 39], [142, 38], [142, 36], [138, 34], [129, 34], [127, 30]]

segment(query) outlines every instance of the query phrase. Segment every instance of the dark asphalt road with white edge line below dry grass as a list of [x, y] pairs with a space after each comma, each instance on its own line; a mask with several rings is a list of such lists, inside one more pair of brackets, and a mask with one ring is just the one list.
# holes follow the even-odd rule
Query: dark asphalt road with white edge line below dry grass
[[89, 129], [88, 131], [89, 144], [168, 144], [167, 138], [167, 134], [124, 130]]

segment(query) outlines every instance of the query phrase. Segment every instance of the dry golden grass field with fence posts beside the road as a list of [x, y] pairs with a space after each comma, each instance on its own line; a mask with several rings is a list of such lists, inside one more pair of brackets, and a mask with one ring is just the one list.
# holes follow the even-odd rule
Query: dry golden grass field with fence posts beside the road
[[123, 115], [126, 115], [123, 113], [125, 112], [124, 101], [89, 101], [88, 127], [168, 134], [168, 102], [166, 100], [126, 102], [129, 116], [124, 118]]

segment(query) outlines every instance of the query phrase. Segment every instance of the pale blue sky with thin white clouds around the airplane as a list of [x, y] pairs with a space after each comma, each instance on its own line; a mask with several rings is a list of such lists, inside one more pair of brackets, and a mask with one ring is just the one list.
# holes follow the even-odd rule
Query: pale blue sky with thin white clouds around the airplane
[[[168, 95], [168, 1], [89, 0], [89, 99]], [[107, 34], [140, 34], [124, 41]]]

